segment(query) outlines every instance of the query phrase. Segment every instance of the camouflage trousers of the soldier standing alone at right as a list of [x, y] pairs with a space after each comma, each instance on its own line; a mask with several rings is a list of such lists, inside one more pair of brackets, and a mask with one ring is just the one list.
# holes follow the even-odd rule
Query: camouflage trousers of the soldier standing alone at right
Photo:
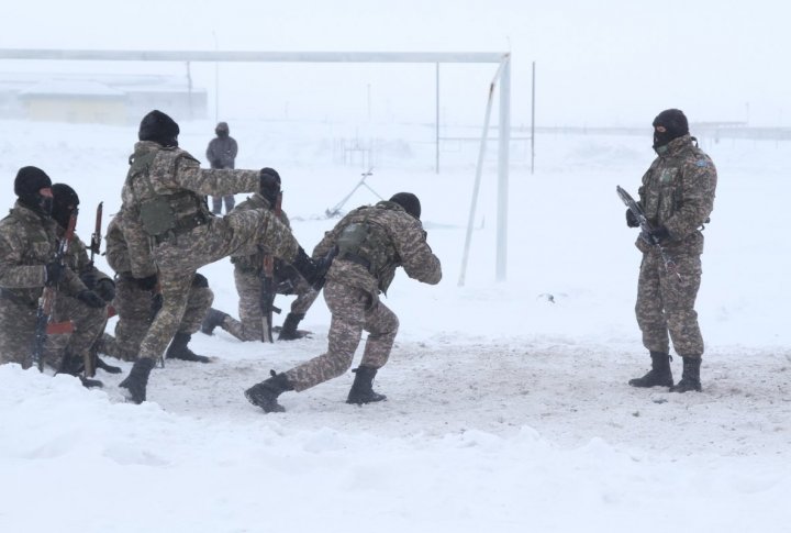
[[669, 353], [669, 333], [678, 355], [700, 357], [703, 337], [694, 310], [702, 273], [700, 255], [671, 257], [680, 279], [667, 271], [658, 249], [643, 254], [635, 306], [643, 345], [653, 352]]

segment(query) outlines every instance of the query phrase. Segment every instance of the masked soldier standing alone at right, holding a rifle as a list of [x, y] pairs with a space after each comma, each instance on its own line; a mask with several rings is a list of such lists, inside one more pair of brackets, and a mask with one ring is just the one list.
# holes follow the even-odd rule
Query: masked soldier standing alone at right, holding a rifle
[[[673, 392], [700, 391], [703, 337], [694, 302], [701, 282], [701, 230], [714, 208], [716, 169], [690, 136], [687, 116], [678, 109], [662, 111], [654, 120], [654, 149], [658, 157], [643, 176], [639, 204], [659, 244], [637, 238], [643, 263], [635, 307], [651, 369], [630, 380], [630, 385], [660, 385]], [[631, 211], [626, 212], [626, 223], [631, 227], [639, 225]], [[665, 264], [660, 247], [675, 265]], [[668, 333], [683, 359], [683, 374], [677, 385], [670, 370]]]

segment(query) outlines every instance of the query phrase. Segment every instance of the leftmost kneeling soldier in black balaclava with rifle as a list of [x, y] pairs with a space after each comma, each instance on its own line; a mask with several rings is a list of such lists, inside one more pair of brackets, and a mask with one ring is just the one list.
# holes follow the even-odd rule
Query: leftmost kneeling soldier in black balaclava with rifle
[[[14, 193], [16, 203], [0, 221], [0, 363], [30, 365], [36, 309], [45, 286], [57, 287], [56, 300], [74, 297], [82, 304], [80, 312], [71, 315], [60, 308], [58, 320], [74, 322], [71, 356], [83, 357], [92, 342], [90, 332], [105, 318], [101, 313], [104, 301], [74, 270], [54, 260], [62, 232], [51, 216], [49, 177], [37, 167], [23, 167], [16, 174]], [[73, 368], [59, 360], [47, 363]]]

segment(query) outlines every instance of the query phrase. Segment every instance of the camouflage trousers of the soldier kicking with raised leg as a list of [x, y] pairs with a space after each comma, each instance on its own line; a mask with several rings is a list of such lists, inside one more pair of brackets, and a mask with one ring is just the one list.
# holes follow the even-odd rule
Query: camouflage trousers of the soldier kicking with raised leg
[[140, 357], [163, 356], [187, 309], [189, 288], [198, 268], [230, 255], [253, 255], [266, 248], [293, 260], [299, 243], [268, 210], [233, 211], [222, 219], [176, 235], [153, 249], [159, 269], [163, 307], [141, 343]]

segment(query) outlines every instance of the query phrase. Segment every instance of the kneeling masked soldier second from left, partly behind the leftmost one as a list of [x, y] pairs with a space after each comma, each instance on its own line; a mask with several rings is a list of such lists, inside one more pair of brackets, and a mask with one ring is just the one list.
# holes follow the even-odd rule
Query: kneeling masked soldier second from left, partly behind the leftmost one
[[[52, 191], [52, 219], [57, 222], [58, 237], [62, 238], [71, 215], [77, 216], [79, 197], [66, 184], [53, 185]], [[110, 374], [121, 374], [121, 368], [108, 365], [97, 353], [98, 341], [107, 325], [108, 307], [115, 297], [114, 281], [91, 263], [88, 257], [88, 247], [76, 233], [71, 237], [65, 264], [71, 271], [77, 273], [86, 287], [96, 292], [101, 301], [93, 299], [88, 303], [66, 295], [57, 298], [53, 308], [53, 320], [55, 322], [73, 320], [80, 326], [75, 326], [75, 331], [68, 335], [49, 336], [47, 353], [53, 354], [53, 358], [62, 359], [59, 371], [64, 374], [76, 376], [85, 373], [87, 377], [92, 377], [97, 368]], [[85, 366], [86, 362], [89, 363], [88, 367]]]

